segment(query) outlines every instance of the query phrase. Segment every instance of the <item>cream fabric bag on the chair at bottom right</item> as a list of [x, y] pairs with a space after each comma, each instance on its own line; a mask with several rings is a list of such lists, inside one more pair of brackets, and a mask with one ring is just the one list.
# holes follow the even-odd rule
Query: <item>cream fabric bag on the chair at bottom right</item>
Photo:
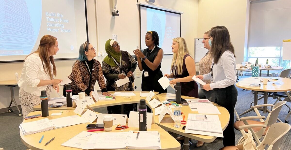
[[239, 150], [259, 150], [253, 140], [251, 131], [248, 131], [242, 138], [237, 142], [237, 148]]

